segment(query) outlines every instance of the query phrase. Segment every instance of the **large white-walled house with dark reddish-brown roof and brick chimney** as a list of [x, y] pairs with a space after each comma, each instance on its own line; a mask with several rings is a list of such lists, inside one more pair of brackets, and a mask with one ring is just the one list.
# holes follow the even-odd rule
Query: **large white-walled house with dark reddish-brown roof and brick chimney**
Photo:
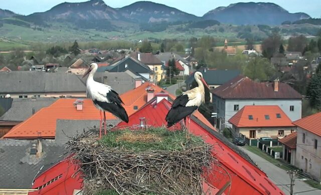
[[246, 76], [237, 76], [211, 90], [217, 127], [232, 127], [226, 123], [244, 105], [278, 105], [291, 121], [301, 118], [302, 95], [287, 83], [256, 82]]

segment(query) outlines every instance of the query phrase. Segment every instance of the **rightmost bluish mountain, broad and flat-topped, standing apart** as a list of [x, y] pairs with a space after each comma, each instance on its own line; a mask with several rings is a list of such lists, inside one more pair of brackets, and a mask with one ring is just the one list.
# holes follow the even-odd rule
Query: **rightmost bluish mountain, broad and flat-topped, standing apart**
[[289, 13], [284, 8], [270, 2], [238, 2], [220, 6], [203, 15], [205, 19], [216, 19], [231, 24], [279, 25], [283, 21], [296, 21], [310, 18], [306, 13]]

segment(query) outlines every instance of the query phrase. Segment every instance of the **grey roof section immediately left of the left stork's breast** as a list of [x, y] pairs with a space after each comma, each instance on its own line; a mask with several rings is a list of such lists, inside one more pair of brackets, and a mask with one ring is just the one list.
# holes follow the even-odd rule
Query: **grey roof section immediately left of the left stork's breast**
[[47, 73], [45, 92], [86, 91], [86, 85], [76, 74]]

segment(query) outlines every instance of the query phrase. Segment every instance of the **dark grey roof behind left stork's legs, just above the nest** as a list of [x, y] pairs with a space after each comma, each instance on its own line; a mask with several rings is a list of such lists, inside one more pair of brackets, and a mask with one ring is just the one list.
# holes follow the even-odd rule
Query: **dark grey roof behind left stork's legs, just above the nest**
[[[117, 120], [106, 120], [106, 124], [115, 126], [120, 122]], [[89, 129], [99, 130], [99, 120], [57, 120], [55, 141], [57, 144], [65, 144], [68, 140]]]

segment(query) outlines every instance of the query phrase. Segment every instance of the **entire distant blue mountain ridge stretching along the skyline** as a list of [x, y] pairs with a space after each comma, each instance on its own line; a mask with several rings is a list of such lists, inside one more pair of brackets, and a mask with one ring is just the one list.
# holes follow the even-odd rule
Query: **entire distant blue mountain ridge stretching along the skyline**
[[[210, 7], [210, 5], [209, 5]], [[18, 15], [9, 10], [0, 9], [0, 18], [18, 17], [37, 24], [50, 25], [50, 22], [69, 22], [76, 27], [113, 29], [113, 22], [157, 23], [177, 21], [218, 20], [231, 24], [268, 24], [278, 25], [284, 21], [296, 21], [310, 18], [306, 13], [289, 13], [275, 3], [245, 2], [220, 6], [205, 13], [202, 17], [181, 11], [177, 8], [150, 1], [137, 1], [120, 8], [108, 6], [103, 0], [86, 2], [64, 2], [44, 12], [30, 15]]]

